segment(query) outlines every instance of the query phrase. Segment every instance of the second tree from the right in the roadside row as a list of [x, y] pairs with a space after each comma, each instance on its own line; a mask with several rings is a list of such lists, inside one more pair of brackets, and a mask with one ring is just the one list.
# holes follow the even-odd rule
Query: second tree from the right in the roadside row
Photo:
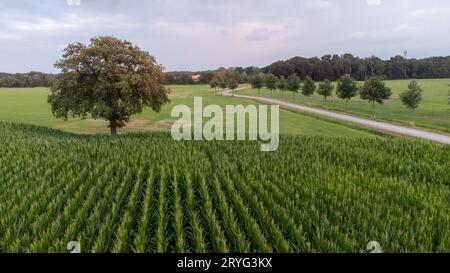
[[375, 117], [375, 103], [383, 104], [384, 100], [392, 96], [392, 91], [387, 87], [381, 77], [366, 79], [360, 91], [361, 99], [372, 103], [373, 117]]

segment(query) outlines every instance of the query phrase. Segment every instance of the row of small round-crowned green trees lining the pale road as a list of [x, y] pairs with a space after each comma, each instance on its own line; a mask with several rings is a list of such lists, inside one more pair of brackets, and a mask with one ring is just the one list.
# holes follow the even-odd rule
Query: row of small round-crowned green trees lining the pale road
[[[221, 74], [213, 77], [210, 86], [215, 90], [216, 94], [218, 89], [227, 88], [234, 94], [234, 90], [236, 90], [239, 84], [232, 75], [233, 74]], [[328, 79], [316, 83], [309, 76], [306, 76], [304, 80], [301, 80], [296, 74], [292, 74], [286, 78], [284, 76], [277, 77], [272, 73], [260, 73], [251, 77], [249, 82], [253, 89], [258, 90], [258, 96], [261, 95], [261, 89], [267, 88], [270, 91], [271, 97], [273, 97], [273, 92], [275, 90], [281, 91], [282, 94], [284, 94], [285, 91], [291, 92], [294, 101], [299, 92], [308, 97], [308, 100], [310, 100], [310, 97], [314, 93], [317, 93], [323, 97], [324, 102], [326, 103], [328, 98], [332, 97], [335, 92], [338, 98], [346, 102], [346, 111], [348, 111], [350, 100], [357, 95], [359, 95], [362, 100], [372, 103], [374, 109], [376, 104], [384, 104], [384, 101], [390, 99], [392, 96], [392, 90], [386, 86], [384, 79], [381, 76], [368, 77], [363, 84], [358, 84], [351, 75], [345, 74], [336, 81], [336, 84], [334, 84]], [[408, 90], [400, 95], [400, 99], [407, 108], [414, 110], [418, 108], [422, 102], [422, 92], [422, 88], [418, 82], [413, 80], [408, 85]], [[284, 97], [284, 95], [282, 95], [282, 97]]]

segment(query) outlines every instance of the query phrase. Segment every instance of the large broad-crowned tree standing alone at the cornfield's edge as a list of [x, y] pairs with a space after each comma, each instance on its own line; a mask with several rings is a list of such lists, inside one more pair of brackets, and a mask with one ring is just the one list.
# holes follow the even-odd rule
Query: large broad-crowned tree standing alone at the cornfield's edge
[[169, 102], [164, 68], [128, 41], [106, 36], [70, 44], [55, 67], [61, 75], [48, 102], [57, 118], [104, 119], [115, 135], [145, 107], [159, 112]]

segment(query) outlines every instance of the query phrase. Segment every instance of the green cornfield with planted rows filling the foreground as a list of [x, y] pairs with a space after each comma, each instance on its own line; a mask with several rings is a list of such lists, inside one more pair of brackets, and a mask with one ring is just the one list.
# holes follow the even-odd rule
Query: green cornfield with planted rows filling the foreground
[[0, 252], [450, 252], [450, 148], [174, 142], [0, 123]]

